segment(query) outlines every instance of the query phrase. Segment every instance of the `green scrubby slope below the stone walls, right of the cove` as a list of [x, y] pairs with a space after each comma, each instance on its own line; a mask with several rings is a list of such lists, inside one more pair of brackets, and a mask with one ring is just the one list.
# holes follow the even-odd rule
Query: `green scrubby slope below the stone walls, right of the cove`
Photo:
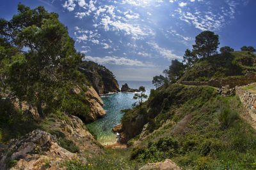
[[[253, 169], [256, 132], [239, 114], [238, 97], [223, 97], [212, 87], [173, 84], [152, 90], [143, 104], [127, 111], [124, 135], [134, 149], [131, 160], [172, 159], [185, 169]], [[145, 126], [131, 135], [143, 117]], [[128, 132], [127, 132], [128, 131]]]

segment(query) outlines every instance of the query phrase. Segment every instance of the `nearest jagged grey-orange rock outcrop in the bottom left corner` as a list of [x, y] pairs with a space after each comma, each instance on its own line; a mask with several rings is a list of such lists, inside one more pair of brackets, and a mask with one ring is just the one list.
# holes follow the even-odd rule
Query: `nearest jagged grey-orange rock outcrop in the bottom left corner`
[[57, 169], [63, 159], [72, 159], [76, 153], [61, 148], [56, 138], [36, 129], [20, 139], [10, 141], [8, 152], [0, 153], [0, 169]]

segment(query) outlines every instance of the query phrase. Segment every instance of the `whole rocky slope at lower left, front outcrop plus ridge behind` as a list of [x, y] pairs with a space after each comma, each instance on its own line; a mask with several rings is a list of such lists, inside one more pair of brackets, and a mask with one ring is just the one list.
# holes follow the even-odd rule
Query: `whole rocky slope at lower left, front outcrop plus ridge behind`
[[[49, 132], [36, 129], [20, 139], [12, 139], [8, 145], [0, 145], [0, 169], [59, 169], [65, 160], [76, 159], [86, 164], [81, 155], [101, 154], [100, 145], [83, 122], [75, 116], [67, 118], [51, 118], [46, 127]], [[76, 150], [72, 150], [70, 143]]]

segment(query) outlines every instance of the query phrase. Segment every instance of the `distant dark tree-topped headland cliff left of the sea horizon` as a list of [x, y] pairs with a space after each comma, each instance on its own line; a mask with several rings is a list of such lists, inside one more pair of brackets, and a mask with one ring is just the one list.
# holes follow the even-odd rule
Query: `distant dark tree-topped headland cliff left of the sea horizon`
[[115, 76], [106, 67], [92, 61], [83, 61], [79, 71], [86, 76], [98, 94], [120, 92]]

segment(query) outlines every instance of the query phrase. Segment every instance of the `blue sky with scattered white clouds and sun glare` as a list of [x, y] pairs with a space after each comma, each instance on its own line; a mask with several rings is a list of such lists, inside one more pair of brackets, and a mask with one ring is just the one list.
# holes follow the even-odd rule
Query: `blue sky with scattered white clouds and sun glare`
[[219, 47], [256, 48], [255, 0], [9, 0], [0, 17], [10, 20], [19, 2], [58, 13], [84, 60], [106, 66], [117, 80], [163, 74], [206, 30], [219, 35]]

